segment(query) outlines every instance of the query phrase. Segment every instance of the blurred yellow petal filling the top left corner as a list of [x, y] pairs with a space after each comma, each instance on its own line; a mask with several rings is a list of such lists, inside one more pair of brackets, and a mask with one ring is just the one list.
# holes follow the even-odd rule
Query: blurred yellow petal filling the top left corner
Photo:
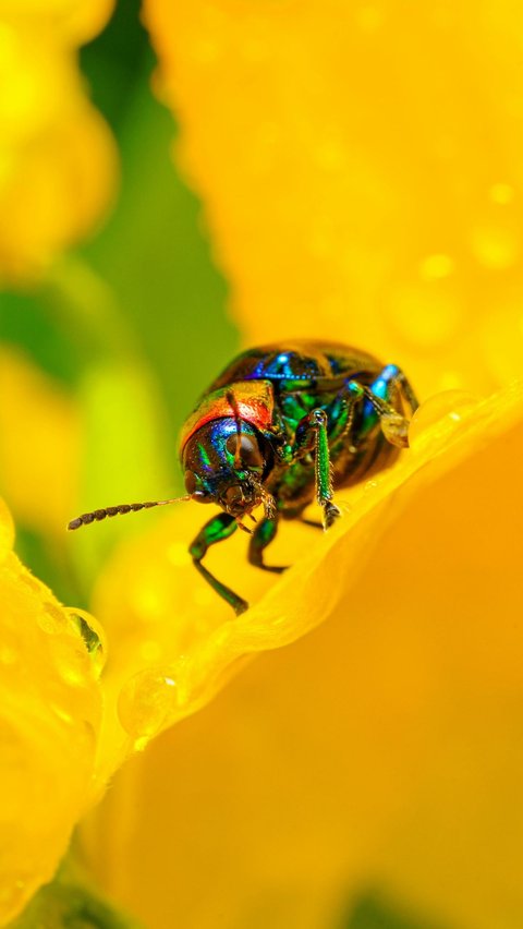
[[108, 12], [101, 2], [0, 2], [0, 282], [41, 273], [111, 202], [114, 143], [75, 56]]

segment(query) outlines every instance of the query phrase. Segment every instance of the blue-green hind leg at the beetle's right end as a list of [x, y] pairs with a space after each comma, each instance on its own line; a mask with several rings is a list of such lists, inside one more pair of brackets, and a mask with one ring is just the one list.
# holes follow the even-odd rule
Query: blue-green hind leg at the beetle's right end
[[411, 414], [417, 409], [418, 403], [401, 369], [396, 364], [388, 364], [369, 387], [357, 381], [349, 381], [346, 387], [354, 397], [360, 397], [364, 401], [362, 432], [368, 432], [379, 421], [387, 441], [399, 448], [406, 448], [409, 419], [393, 406], [392, 401], [400, 397]]

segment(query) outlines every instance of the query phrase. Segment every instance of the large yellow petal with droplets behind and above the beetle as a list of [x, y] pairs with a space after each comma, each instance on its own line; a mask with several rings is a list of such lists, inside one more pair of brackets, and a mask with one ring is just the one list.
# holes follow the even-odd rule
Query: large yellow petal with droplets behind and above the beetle
[[144, 5], [247, 342], [360, 345], [422, 396], [521, 375], [521, 4]]

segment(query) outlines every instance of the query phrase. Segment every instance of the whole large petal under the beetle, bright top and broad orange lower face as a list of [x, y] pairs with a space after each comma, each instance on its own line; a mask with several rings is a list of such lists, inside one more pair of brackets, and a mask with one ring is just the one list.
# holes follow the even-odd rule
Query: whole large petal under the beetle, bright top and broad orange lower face
[[108, 568], [108, 701], [135, 745], [294, 642], [124, 769], [86, 831], [146, 925], [335, 927], [362, 885], [421, 925], [521, 925], [523, 390], [435, 397], [411, 437], [325, 536], [283, 527], [276, 582], [217, 546], [239, 618], [184, 559], [188, 508]]

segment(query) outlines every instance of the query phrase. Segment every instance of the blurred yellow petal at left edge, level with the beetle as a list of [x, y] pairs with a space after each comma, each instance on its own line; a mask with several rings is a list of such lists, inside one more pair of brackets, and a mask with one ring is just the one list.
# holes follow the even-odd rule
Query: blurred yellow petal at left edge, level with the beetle
[[25, 355], [0, 348], [0, 487], [25, 527], [63, 542], [77, 499], [78, 456], [71, 397]]

